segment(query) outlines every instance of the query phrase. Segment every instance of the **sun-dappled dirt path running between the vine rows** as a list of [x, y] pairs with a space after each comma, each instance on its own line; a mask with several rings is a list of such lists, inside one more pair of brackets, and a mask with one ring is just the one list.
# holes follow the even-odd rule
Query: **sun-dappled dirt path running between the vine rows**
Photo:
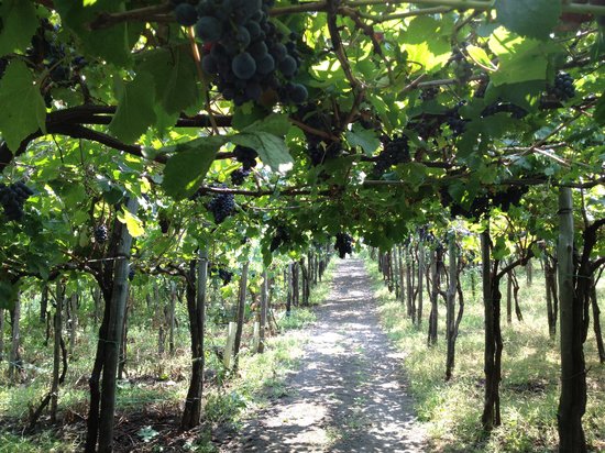
[[285, 396], [221, 452], [422, 452], [425, 432], [397, 353], [378, 325], [361, 259], [341, 259]]

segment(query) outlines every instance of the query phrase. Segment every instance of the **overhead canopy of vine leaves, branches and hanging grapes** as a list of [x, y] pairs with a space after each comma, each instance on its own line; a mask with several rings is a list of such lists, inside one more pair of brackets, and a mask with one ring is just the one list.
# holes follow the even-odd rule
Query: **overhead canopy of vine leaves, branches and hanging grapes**
[[267, 259], [314, 234], [388, 246], [603, 184], [603, 3], [6, 0], [0, 168], [201, 200], [264, 230]]

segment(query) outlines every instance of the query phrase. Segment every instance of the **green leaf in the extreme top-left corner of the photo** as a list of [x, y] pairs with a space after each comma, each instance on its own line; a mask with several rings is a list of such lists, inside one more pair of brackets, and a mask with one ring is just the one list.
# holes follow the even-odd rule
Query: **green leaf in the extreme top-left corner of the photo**
[[24, 51], [37, 27], [35, 8], [30, 0], [0, 2], [0, 55]]

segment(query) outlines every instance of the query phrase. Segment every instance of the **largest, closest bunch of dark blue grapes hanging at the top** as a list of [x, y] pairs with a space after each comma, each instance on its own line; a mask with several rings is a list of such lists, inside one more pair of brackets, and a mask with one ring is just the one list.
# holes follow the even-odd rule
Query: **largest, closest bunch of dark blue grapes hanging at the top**
[[205, 43], [202, 69], [217, 76], [217, 88], [235, 106], [258, 101], [270, 90], [284, 103], [307, 99], [307, 88], [290, 81], [300, 66], [296, 35], [286, 41], [268, 20], [273, 4], [274, 0], [201, 0], [197, 8], [185, 2], [175, 8], [177, 22], [195, 26]]

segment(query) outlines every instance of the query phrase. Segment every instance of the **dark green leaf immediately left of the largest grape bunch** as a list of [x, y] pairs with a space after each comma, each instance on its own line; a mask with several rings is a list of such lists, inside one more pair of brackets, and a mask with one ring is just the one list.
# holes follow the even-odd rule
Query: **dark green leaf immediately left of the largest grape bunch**
[[200, 101], [195, 63], [188, 46], [143, 54], [138, 71], [154, 77], [155, 96], [167, 113], [180, 113]]

